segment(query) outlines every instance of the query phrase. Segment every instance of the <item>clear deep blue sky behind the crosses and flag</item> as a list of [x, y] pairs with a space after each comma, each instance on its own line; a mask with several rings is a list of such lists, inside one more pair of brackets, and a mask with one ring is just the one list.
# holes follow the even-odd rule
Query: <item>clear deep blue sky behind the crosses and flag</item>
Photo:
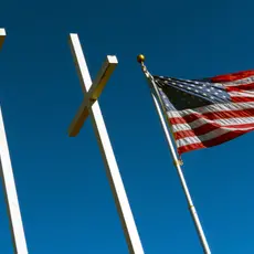
[[[198, 78], [254, 67], [253, 1], [3, 1], [0, 100], [30, 253], [127, 254], [95, 135], [67, 127], [83, 94], [67, 35], [94, 77], [119, 65], [99, 104], [145, 252], [202, 253], [149, 89], [154, 74]], [[183, 155], [212, 253], [254, 253], [254, 134]], [[3, 194], [0, 253], [11, 254]]]

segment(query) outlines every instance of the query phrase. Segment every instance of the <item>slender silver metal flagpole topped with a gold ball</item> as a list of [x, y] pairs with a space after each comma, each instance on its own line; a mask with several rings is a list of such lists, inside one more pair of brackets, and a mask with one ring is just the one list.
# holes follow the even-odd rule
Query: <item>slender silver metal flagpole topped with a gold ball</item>
[[163, 104], [161, 102], [158, 87], [155, 84], [154, 77], [150, 75], [150, 73], [147, 71], [146, 65], [144, 64], [145, 56], [144, 55], [138, 55], [137, 61], [141, 64], [142, 72], [145, 73], [147, 80], [149, 81], [150, 88], [151, 88], [151, 96], [152, 96], [157, 113], [159, 115], [160, 123], [162, 125], [162, 128], [163, 128], [163, 131], [165, 131], [165, 135], [166, 135], [166, 138], [167, 138], [167, 141], [168, 141], [168, 145], [169, 145], [169, 150], [170, 150], [172, 159], [173, 159], [173, 165], [177, 168], [178, 176], [180, 178], [180, 182], [181, 182], [181, 186], [182, 186], [182, 189], [183, 189], [187, 202], [188, 202], [188, 207], [189, 207], [192, 220], [194, 222], [195, 230], [197, 230], [197, 233], [199, 235], [200, 243], [201, 243], [201, 245], [203, 247], [203, 252], [205, 254], [211, 254], [211, 251], [210, 251], [210, 247], [208, 245], [208, 242], [207, 242], [202, 225], [200, 223], [198, 213], [195, 211], [193, 201], [191, 199], [190, 191], [188, 189], [184, 176], [182, 173], [181, 160], [178, 159], [177, 152], [176, 152], [174, 147], [173, 147], [172, 139], [171, 139], [170, 134], [169, 134], [169, 127], [170, 126], [168, 125], [168, 120], [166, 120], [167, 119], [167, 116], [165, 114], [166, 110], [163, 109]]

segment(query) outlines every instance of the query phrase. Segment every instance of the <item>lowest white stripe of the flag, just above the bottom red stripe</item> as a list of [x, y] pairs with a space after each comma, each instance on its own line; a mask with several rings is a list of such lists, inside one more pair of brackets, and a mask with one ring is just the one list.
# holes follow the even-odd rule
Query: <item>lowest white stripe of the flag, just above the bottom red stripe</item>
[[[248, 130], [252, 128], [237, 128], [237, 130]], [[177, 142], [177, 147], [182, 147], [182, 146], [188, 146], [188, 145], [192, 145], [192, 144], [199, 144], [199, 142], [203, 142], [203, 141], [208, 141], [214, 138], [218, 138], [224, 134], [227, 134], [232, 131], [232, 129], [229, 128], [220, 128], [220, 129], [214, 129], [208, 134], [204, 135], [200, 135], [200, 136], [194, 136], [194, 137], [186, 137], [186, 138], [181, 138], [178, 139]]]

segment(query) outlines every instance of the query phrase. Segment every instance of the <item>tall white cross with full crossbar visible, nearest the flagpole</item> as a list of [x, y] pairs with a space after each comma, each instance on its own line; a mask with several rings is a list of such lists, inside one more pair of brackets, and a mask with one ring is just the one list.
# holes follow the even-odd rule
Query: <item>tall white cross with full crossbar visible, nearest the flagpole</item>
[[84, 93], [84, 100], [70, 126], [68, 135], [71, 137], [76, 136], [86, 117], [88, 115], [91, 116], [104, 163], [106, 166], [107, 177], [116, 201], [117, 211], [119, 213], [129, 253], [144, 254], [142, 245], [130, 210], [125, 187], [97, 100], [110, 74], [117, 65], [117, 59], [116, 56], [107, 56], [107, 60], [100, 68], [97, 77], [95, 78], [94, 83], [92, 83], [77, 34], [70, 34], [70, 43]]

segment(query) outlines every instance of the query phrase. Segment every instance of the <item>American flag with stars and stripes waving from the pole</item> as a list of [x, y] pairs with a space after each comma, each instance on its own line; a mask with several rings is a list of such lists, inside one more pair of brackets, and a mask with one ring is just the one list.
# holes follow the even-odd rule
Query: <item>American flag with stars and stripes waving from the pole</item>
[[254, 129], [254, 71], [203, 80], [151, 76], [179, 155]]

